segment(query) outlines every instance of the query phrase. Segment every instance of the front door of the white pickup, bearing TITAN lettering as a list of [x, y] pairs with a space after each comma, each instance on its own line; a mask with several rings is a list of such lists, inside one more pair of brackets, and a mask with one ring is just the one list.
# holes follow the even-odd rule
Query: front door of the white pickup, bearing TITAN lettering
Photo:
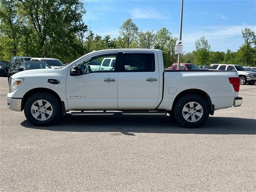
[[100, 54], [86, 58], [76, 64], [77, 75], [70, 75], [66, 80], [66, 97], [70, 110], [117, 110], [118, 72], [95, 70], [90, 65], [102, 62], [105, 58], [115, 58], [117, 54]]

